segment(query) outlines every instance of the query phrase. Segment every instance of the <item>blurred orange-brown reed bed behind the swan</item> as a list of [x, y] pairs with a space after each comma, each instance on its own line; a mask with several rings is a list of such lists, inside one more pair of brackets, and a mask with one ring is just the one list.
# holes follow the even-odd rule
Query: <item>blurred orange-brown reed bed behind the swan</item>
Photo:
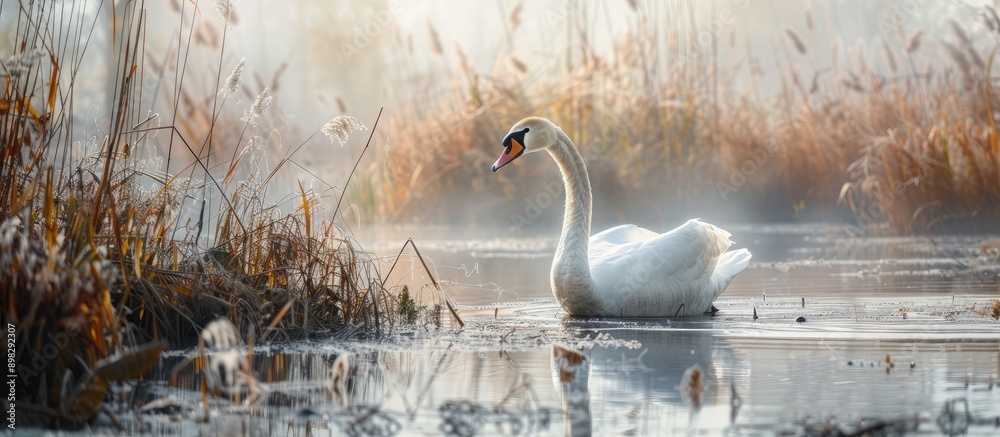
[[[669, 26], [633, 11], [610, 52], [595, 48], [585, 24], [600, 22], [591, 16], [600, 11], [569, 4], [574, 30], [546, 52], [559, 68], [524, 59], [531, 50], [511, 43], [501, 44], [504, 60], [477, 71], [460, 46], [448, 50], [434, 33], [431, 50], [454, 65], [439, 76], [458, 85], [407, 76], [414, 89], [432, 91], [414, 92], [400, 110], [405, 121], [392, 126], [397, 165], [369, 169], [383, 193], [377, 212], [390, 221], [511, 224], [558, 174], [531, 160], [496, 174], [490, 164], [509, 126], [542, 115], [587, 159], [598, 221], [715, 214], [842, 221], [859, 233], [997, 229], [992, 38], [955, 24], [935, 37], [900, 26], [873, 47], [838, 42], [827, 55], [806, 43], [829, 33], [806, 10], [809, 35], [783, 26], [774, 44], [787, 56], [765, 70], [732, 33], [727, 42], [718, 32], [713, 43], [742, 53], [730, 60], [690, 27], [678, 30], [685, 23], [674, 20], [694, 6], [672, 4], [680, 10], [659, 20]], [[511, 7], [511, 34], [521, 8]], [[981, 12], [984, 32], [995, 36], [995, 11]], [[758, 87], [765, 74], [780, 77], [778, 90]], [[737, 87], [741, 78], [750, 85]]]

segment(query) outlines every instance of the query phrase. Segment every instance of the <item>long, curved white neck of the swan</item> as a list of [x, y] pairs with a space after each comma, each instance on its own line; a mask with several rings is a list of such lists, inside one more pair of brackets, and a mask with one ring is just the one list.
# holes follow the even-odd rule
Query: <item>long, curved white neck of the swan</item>
[[566, 186], [566, 213], [552, 261], [552, 290], [556, 299], [574, 315], [595, 314], [599, 301], [590, 276], [590, 176], [573, 141], [557, 130], [558, 140], [547, 150], [562, 173]]

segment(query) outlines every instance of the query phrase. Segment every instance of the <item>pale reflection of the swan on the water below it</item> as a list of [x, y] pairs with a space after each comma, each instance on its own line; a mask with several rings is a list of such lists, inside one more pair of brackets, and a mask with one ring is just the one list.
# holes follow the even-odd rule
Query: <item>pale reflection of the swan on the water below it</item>
[[[606, 326], [596, 330], [597, 326], [564, 323], [598, 338], [598, 344], [585, 351], [552, 347], [552, 377], [566, 435], [721, 431], [735, 419], [730, 405], [732, 375], [726, 373], [739, 363], [717, 333]], [[603, 334], [610, 334], [615, 344], [602, 341], [607, 338]], [[616, 347], [628, 342], [641, 347]], [[694, 366], [701, 369], [696, 381], [700, 388], [691, 393], [691, 382], [682, 380]]]

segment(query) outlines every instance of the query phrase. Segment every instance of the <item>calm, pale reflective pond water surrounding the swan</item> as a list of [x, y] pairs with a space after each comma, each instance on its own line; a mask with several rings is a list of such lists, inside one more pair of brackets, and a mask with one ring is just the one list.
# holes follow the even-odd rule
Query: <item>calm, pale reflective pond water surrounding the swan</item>
[[[169, 382], [194, 354], [175, 351], [123, 404], [177, 407], [122, 407], [119, 420], [128, 431], [282, 435], [1000, 432], [1000, 322], [984, 312], [1000, 298], [1000, 263], [979, 249], [989, 236], [728, 229], [754, 252], [751, 268], [718, 314], [676, 320], [562, 318], [549, 236], [382, 230], [393, 243], [373, 245], [381, 253], [419, 237], [463, 329], [257, 347], [258, 399], [210, 397], [207, 424], [193, 366]], [[421, 279], [409, 261], [396, 280]], [[696, 365], [692, 389], [683, 377]]]

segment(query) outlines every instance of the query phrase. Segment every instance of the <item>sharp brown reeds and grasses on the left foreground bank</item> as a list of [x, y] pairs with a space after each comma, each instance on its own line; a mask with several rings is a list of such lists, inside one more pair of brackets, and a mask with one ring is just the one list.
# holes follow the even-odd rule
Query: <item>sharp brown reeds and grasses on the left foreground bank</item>
[[[290, 212], [268, 204], [269, 182], [297, 165], [298, 149], [262, 165], [273, 130], [259, 123], [280, 70], [254, 91], [242, 61], [227, 76], [237, 64], [224, 56], [232, 4], [194, 3], [173, 2], [180, 42], [165, 57], [145, 53], [142, 1], [17, 11], [0, 70], [0, 303], [16, 345], [19, 426], [111, 416], [101, 402], [112, 383], [141, 377], [167, 346], [194, 344], [219, 318], [259, 343], [439, 317], [321, 219], [320, 193], [300, 185]], [[94, 47], [101, 29], [112, 45]], [[95, 134], [78, 102], [102, 48], [112, 96]], [[190, 61], [198, 50], [213, 56]], [[227, 111], [236, 92], [252, 97]], [[316, 132], [343, 142], [362, 128], [338, 117]]]

